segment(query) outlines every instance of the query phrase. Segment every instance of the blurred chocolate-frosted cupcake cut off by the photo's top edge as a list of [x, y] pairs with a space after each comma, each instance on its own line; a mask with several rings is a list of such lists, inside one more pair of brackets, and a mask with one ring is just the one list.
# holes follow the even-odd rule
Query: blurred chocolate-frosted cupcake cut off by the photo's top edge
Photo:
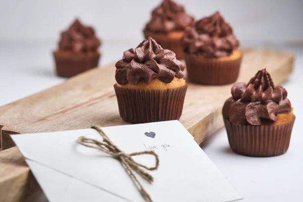
[[178, 60], [183, 59], [180, 39], [186, 27], [193, 24], [193, 17], [187, 15], [184, 8], [172, 0], [164, 0], [153, 10], [151, 19], [143, 32], [145, 38], [153, 37], [163, 48], [176, 54]]

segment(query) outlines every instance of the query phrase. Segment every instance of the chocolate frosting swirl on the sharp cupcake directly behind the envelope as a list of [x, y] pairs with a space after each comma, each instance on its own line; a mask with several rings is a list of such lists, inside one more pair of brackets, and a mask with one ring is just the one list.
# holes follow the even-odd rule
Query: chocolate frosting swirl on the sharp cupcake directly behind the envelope
[[120, 85], [139, 81], [147, 84], [154, 78], [170, 83], [174, 77], [183, 78], [185, 66], [176, 59], [174, 52], [163, 49], [153, 38], [148, 37], [136, 48], [123, 53], [116, 63], [116, 81]]

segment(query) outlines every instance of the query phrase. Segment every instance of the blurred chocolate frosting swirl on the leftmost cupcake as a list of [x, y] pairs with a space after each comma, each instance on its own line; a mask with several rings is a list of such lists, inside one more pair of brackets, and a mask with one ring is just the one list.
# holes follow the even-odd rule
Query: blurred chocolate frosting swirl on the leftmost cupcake
[[84, 26], [78, 19], [61, 33], [59, 49], [62, 51], [88, 52], [96, 51], [101, 45], [90, 26]]

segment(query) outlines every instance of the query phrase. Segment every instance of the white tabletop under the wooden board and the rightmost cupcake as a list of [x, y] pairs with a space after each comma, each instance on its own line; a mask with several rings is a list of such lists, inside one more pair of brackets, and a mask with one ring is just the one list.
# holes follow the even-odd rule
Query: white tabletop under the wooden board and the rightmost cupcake
[[[100, 65], [121, 58], [123, 51], [136, 46], [138, 41], [104, 41]], [[64, 81], [54, 73], [52, 50], [55, 47], [55, 41], [0, 41], [0, 106]], [[303, 48], [274, 48], [296, 55], [294, 72], [284, 84], [296, 115], [287, 153], [272, 158], [234, 154], [224, 128], [201, 144], [210, 159], [244, 196], [245, 202], [303, 201]]]

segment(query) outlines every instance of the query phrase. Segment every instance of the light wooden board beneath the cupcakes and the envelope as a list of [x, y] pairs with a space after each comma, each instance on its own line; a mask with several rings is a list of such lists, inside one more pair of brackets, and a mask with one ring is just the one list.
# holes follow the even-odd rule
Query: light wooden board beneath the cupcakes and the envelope
[[[292, 71], [294, 57], [289, 53], [260, 49], [243, 53], [238, 81], [248, 82], [266, 67], [278, 85]], [[10, 134], [128, 124], [119, 116], [114, 73], [114, 64], [96, 68], [0, 108], [0, 201], [19, 201], [41, 192]], [[189, 83], [179, 121], [197, 143], [223, 126], [221, 109], [231, 95], [231, 85]]]

